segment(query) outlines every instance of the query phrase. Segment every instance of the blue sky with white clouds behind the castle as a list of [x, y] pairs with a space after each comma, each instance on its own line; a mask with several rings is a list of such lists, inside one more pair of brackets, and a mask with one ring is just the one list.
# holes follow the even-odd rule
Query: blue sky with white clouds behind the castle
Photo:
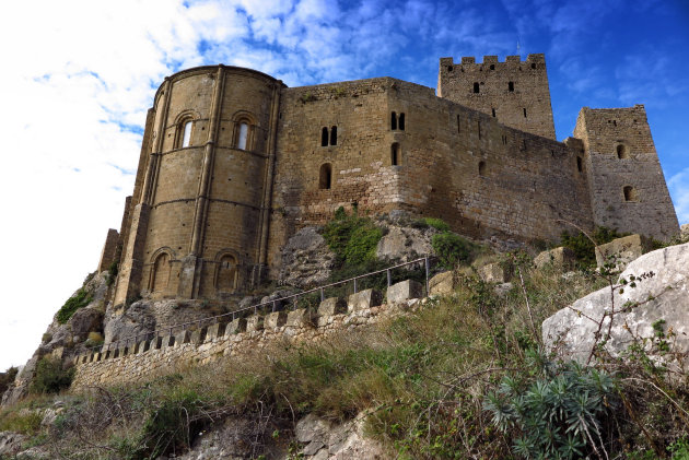
[[288, 85], [435, 87], [441, 57], [545, 52], [557, 135], [581, 107], [644, 104], [689, 222], [689, 3], [680, 0], [34, 0], [1, 7], [0, 369], [23, 364], [95, 269], [165, 75], [249, 67]]

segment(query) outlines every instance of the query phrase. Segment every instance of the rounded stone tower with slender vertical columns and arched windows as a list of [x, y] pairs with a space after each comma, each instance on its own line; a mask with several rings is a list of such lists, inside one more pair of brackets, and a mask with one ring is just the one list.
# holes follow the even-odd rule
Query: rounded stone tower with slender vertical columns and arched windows
[[115, 303], [223, 297], [265, 264], [282, 82], [199, 67], [165, 80], [149, 110]]

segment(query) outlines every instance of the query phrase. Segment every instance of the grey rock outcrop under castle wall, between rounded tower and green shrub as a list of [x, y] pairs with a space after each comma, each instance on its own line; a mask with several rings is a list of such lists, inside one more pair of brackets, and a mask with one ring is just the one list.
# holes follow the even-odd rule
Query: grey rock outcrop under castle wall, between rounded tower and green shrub
[[324, 284], [330, 276], [335, 253], [316, 227], [304, 227], [282, 249], [281, 284], [308, 287]]

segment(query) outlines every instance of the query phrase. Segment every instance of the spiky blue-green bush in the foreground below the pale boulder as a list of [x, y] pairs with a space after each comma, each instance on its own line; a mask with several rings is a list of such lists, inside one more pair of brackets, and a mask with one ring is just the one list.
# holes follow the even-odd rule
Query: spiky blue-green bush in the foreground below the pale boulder
[[[504, 377], [483, 408], [493, 424], [513, 439], [523, 458], [583, 458], [604, 440], [604, 423], [614, 409], [615, 380], [574, 362], [553, 366], [530, 352], [533, 379]], [[592, 445], [595, 443], [595, 445]]]

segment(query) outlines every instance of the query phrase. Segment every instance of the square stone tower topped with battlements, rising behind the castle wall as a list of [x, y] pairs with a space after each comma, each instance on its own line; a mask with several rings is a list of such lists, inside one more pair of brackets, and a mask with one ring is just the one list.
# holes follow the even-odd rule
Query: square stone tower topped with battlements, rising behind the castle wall
[[[478, 90], [478, 91], [477, 91]], [[495, 117], [501, 123], [556, 139], [550, 89], [544, 55], [484, 56], [482, 63], [472, 57], [442, 58], [437, 95]]]

